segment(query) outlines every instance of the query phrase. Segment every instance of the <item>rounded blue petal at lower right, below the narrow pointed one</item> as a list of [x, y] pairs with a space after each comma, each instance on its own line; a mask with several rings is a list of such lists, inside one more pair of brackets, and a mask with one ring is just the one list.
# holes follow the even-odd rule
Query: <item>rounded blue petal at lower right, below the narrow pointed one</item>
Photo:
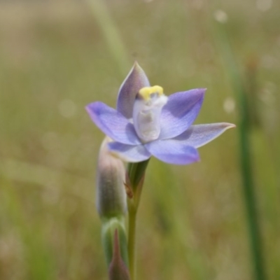
[[173, 165], [189, 165], [200, 160], [196, 148], [173, 139], [157, 140], [145, 146], [155, 158]]

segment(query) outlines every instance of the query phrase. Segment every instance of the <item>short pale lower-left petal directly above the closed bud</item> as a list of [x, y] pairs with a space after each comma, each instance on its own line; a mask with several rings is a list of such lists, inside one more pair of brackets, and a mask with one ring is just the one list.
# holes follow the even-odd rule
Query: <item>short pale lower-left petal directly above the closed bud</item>
[[118, 157], [126, 162], [142, 162], [151, 157], [144, 145], [126, 145], [118, 142], [110, 142], [109, 150], [116, 153]]

